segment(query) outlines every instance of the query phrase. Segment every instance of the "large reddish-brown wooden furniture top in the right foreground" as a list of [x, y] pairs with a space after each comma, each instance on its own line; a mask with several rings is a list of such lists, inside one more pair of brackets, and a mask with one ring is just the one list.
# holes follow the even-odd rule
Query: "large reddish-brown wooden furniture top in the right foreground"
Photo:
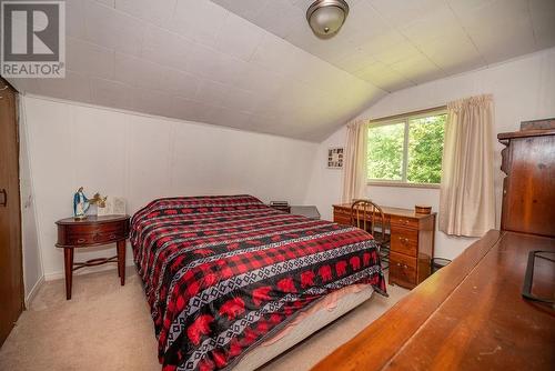
[[313, 370], [553, 370], [553, 308], [521, 297], [531, 250], [555, 239], [490, 231]]

